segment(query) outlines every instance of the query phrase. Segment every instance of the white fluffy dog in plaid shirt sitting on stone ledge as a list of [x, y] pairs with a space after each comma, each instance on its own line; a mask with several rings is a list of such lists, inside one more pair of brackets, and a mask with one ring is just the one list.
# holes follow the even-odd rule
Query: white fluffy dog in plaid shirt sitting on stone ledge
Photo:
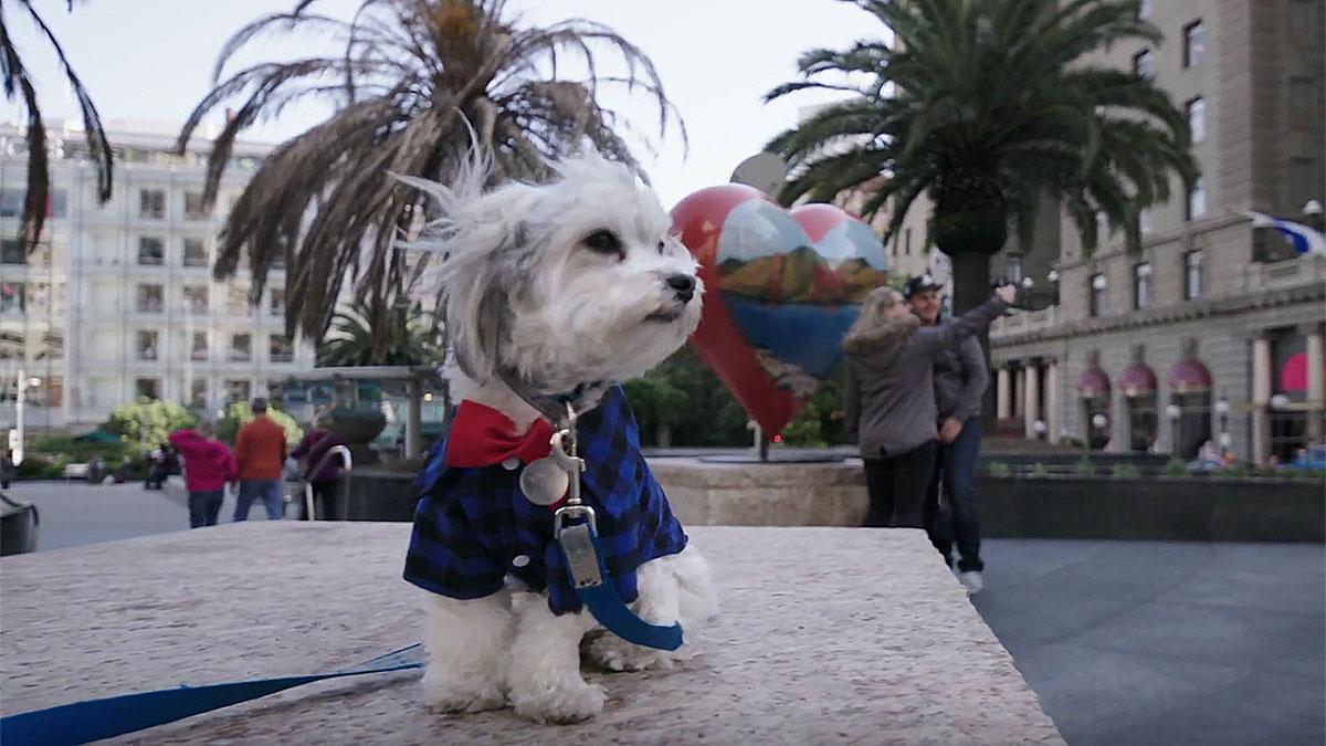
[[[472, 402], [504, 415], [514, 435], [548, 419], [541, 414], [546, 408], [532, 406], [532, 392], [573, 393], [577, 408], [590, 410], [605, 396], [619, 397], [617, 382], [640, 376], [683, 345], [700, 319], [696, 263], [668, 235], [671, 222], [654, 192], [625, 166], [597, 154], [554, 163], [553, 170], [548, 183], [507, 183], [488, 192], [483, 191], [487, 170], [477, 159], [450, 187], [404, 179], [440, 208], [442, 216], [412, 246], [443, 255], [438, 272], [452, 345], [451, 390], [461, 406]], [[631, 466], [636, 479], [643, 473], [652, 485], [643, 457], [636, 451], [631, 458], [639, 459]], [[501, 469], [514, 474], [518, 465], [508, 458], [485, 469], [503, 478]], [[662, 491], [656, 496], [662, 499]], [[416, 515], [412, 554], [416, 542], [424, 542], [420, 531], [434, 531], [430, 520], [446, 523], [448, 531], [457, 522], [488, 520], [447, 512], [464, 512], [457, 504], [426, 507], [426, 500], [427, 495]], [[586, 503], [594, 506], [593, 498]], [[430, 519], [428, 510], [439, 512]], [[666, 500], [662, 510], [671, 520]], [[690, 654], [696, 624], [716, 609], [708, 565], [688, 544], [630, 568], [638, 591], [631, 609], [651, 624], [683, 625], [687, 644], [663, 652], [602, 632], [587, 611], [554, 613], [548, 591], [529, 592], [516, 583], [517, 568], [526, 568], [532, 556], [538, 564], [537, 551], [512, 556], [517, 550], [492, 544], [457, 550], [448, 546], [455, 543], [451, 535], [435, 539], [442, 546], [434, 551], [457, 567], [473, 561], [512, 568], [501, 588], [485, 577], [473, 591], [455, 592], [411, 577], [430, 571], [411, 571], [415, 559], [407, 560], [407, 580], [434, 591], [423, 686], [428, 704], [440, 710], [511, 705], [538, 722], [590, 718], [602, 710], [605, 692], [581, 677], [581, 642], [587, 634], [589, 657], [610, 670], [670, 666]], [[552, 543], [550, 532], [542, 540]]]

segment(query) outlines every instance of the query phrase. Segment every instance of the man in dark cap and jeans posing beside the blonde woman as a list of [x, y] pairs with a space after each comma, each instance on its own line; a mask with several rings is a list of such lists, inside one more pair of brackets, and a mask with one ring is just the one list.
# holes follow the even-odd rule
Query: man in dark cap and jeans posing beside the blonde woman
[[[911, 277], [903, 287], [903, 297], [922, 327], [941, 325], [939, 292], [943, 287], [930, 275]], [[981, 397], [989, 384], [980, 341], [972, 336], [940, 350], [935, 356], [934, 377], [937, 450], [923, 511], [926, 532], [949, 567], [953, 565], [956, 539], [957, 577], [968, 592], [977, 593], [984, 585], [985, 563], [981, 561], [975, 481], [981, 447]]]

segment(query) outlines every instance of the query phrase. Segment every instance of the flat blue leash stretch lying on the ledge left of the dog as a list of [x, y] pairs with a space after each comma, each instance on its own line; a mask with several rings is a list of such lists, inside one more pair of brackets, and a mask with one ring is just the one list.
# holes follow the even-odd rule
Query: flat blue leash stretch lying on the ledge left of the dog
[[423, 668], [423, 645], [410, 645], [332, 673], [253, 678], [204, 686], [182, 685], [32, 710], [0, 718], [0, 743], [28, 746], [89, 743], [219, 710], [314, 681]]

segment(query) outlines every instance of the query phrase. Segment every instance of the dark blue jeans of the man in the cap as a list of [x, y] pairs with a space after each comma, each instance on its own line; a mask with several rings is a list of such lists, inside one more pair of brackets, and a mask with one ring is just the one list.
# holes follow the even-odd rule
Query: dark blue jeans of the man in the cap
[[[935, 458], [935, 475], [926, 495], [926, 531], [945, 563], [952, 561], [953, 539], [957, 539], [957, 569], [961, 572], [985, 569], [981, 561], [981, 527], [976, 516], [976, 457], [981, 447], [981, 418], [972, 417], [963, 423], [957, 439], [940, 446]], [[939, 486], [944, 486], [947, 510], [939, 502]]]

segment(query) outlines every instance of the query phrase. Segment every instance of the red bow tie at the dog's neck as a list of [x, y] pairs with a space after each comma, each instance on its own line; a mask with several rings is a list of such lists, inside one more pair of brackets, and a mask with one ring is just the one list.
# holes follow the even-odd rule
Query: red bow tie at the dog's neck
[[444, 463], [457, 469], [475, 469], [517, 458], [521, 463], [538, 461], [552, 451], [553, 426], [534, 419], [524, 433], [516, 431], [509, 417], [491, 406], [461, 401], [447, 433]]

